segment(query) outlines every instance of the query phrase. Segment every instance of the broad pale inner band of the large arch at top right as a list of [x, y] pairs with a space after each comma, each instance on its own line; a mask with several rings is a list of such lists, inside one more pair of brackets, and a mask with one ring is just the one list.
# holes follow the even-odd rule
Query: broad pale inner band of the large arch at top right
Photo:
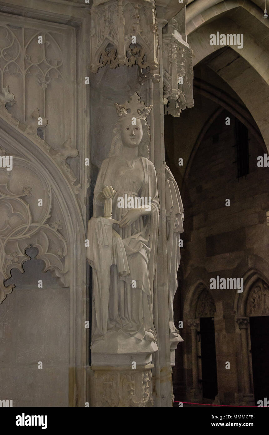
[[[236, 18], [235, 18], [236, 20]], [[227, 33], [243, 33], [244, 47], [238, 49], [237, 46], [230, 46], [232, 50], [240, 54], [243, 59], [248, 62], [242, 68], [242, 73], [232, 73], [232, 68], [237, 67], [237, 61], [234, 61], [229, 68], [221, 68], [216, 71], [229, 86], [238, 94], [246, 107], [252, 114], [257, 126], [265, 141], [266, 147], [269, 150], [269, 127], [265, 120], [264, 114], [269, 110], [269, 103], [266, 101], [268, 94], [269, 82], [269, 55], [266, 47], [262, 47], [260, 43], [253, 39], [248, 30], [236, 22], [229, 19], [218, 19], [198, 27], [188, 37], [188, 43], [193, 50], [193, 65], [196, 65], [200, 60], [207, 57], [209, 54], [219, 49], [219, 46], [209, 44], [209, 35], [221, 29], [224, 34]], [[242, 60], [240, 60], [242, 62]], [[258, 90], [256, 98], [259, 99], [259, 105], [255, 104], [251, 88]]]

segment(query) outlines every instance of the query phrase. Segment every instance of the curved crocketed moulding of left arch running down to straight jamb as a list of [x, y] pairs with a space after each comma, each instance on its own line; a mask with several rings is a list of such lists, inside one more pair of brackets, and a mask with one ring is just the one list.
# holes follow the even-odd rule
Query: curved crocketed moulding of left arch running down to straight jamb
[[[66, 164], [67, 155], [72, 155], [73, 151], [77, 155], [77, 150], [74, 148], [69, 150], [69, 147], [66, 146], [66, 155], [54, 151], [37, 136], [36, 120], [35, 122], [30, 120], [28, 126], [25, 125], [25, 128], [22, 128], [19, 121], [5, 109], [5, 104], [10, 101], [10, 94], [8, 89], [4, 91], [0, 93], [1, 146], [4, 147], [7, 155], [14, 157], [15, 161], [17, 159], [17, 161], [23, 162], [24, 165], [28, 162], [29, 168], [37, 169], [40, 178], [46, 181], [48, 196], [51, 195], [54, 201], [52, 201], [50, 207], [50, 210], [52, 210], [50, 214], [53, 216], [55, 207], [58, 207], [61, 214], [60, 226], [63, 227], [63, 231], [60, 230], [58, 221], [50, 221], [50, 224], [52, 225], [51, 232], [62, 231], [64, 233], [63, 238], [66, 240], [64, 285], [70, 288], [69, 404], [70, 406], [84, 406], [86, 401], [87, 341], [84, 327], [84, 321], [86, 320], [86, 282], [85, 278], [82, 277], [86, 277], [86, 258], [83, 249], [86, 228], [85, 222], [83, 222], [82, 206], [79, 202], [80, 195], [76, 194], [76, 191], [80, 189], [78, 186], [74, 186], [72, 173]], [[70, 151], [71, 154], [69, 154]], [[26, 186], [25, 193], [29, 193], [28, 186]], [[47, 219], [49, 217], [48, 215]], [[46, 225], [46, 219], [43, 224]], [[40, 246], [37, 246], [37, 248], [40, 251]], [[53, 270], [57, 276], [60, 276], [63, 272], [55, 264], [53, 264]]]

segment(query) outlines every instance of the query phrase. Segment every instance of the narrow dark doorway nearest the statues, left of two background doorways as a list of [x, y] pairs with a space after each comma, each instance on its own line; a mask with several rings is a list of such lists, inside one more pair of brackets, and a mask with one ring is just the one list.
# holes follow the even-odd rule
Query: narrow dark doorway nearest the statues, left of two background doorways
[[203, 397], [214, 399], [218, 394], [214, 318], [200, 318], [200, 331]]

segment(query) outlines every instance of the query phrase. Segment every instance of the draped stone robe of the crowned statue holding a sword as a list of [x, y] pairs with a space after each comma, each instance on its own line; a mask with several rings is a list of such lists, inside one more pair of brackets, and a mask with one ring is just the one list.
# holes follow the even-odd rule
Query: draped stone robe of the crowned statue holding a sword
[[[103, 161], [94, 189], [93, 218], [103, 216], [104, 202], [100, 193], [105, 186], [112, 186], [116, 194], [112, 199], [112, 218], [120, 221], [130, 208], [118, 207], [119, 197], [151, 198], [151, 213], [139, 218], [130, 226], [113, 228], [123, 240], [130, 274], [119, 271], [115, 243], [110, 268], [110, 285], [107, 310], [103, 312], [101, 274], [106, 273], [107, 264], [94, 264], [93, 250], [87, 258], [93, 267], [93, 341], [103, 338], [108, 331], [122, 331], [139, 340], [147, 338], [147, 332], [156, 331], [153, 325], [153, 278], [156, 268], [157, 238], [159, 223], [159, 198], [156, 171], [153, 163], [146, 157], [126, 161], [121, 156], [109, 157]], [[124, 204], [126, 205], [126, 204]], [[106, 220], [108, 221], [108, 220]], [[90, 241], [91, 243], [91, 241]], [[119, 253], [118, 253], [119, 254]], [[102, 268], [103, 266], [103, 268]], [[99, 271], [98, 271], [99, 269]], [[126, 269], [126, 267], [125, 267]], [[101, 270], [101, 272], [100, 272]], [[108, 290], [108, 289], [106, 289]], [[100, 322], [100, 316], [103, 321]], [[106, 318], [107, 316], [107, 318]], [[99, 325], [99, 326], [98, 326]], [[101, 326], [100, 326], [101, 325]]]

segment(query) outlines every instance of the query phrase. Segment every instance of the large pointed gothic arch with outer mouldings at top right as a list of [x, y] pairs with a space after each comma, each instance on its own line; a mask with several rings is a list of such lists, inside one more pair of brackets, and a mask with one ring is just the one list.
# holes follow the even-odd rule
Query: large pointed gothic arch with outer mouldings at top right
[[[205, 5], [205, 3], [202, 1], [198, 3], [196, 0], [189, 5], [189, 7], [187, 7], [187, 16], [188, 8], [190, 11], [192, 8], [197, 7], [197, 5]], [[203, 60], [205, 57], [209, 56], [209, 54], [219, 50], [221, 47], [209, 44], [210, 34], [216, 34], [221, 29], [221, 33], [224, 34], [238, 33], [244, 35], [244, 46], [242, 49], [237, 48], [237, 46], [229, 46], [230, 49], [235, 52], [235, 54], [240, 55], [240, 69], [242, 70], [241, 74], [231, 74], [230, 69], [233, 67], [236, 68], [237, 65], [236, 62], [233, 63], [232, 61], [229, 63], [229, 65], [231, 64], [230, 69], [228, 68], [229, 74], [225, 67], [221, 67], [217, 73], [226, 81], [227, 84], [229, 84], [230, 87], [232, 87], [232, 89], [238, 94], [243, 103], [246, 105], [257, 126], [259, 127], [267, 150], [269, 150], [269, 128], [264, 121], [264, 112], [268, 107], [266, 103], [266, 95], [268, 93], [268, 70], [265, 67], [265, 65], [269, 62], [268, 55], [266, 52], [266, 47], [262, 47], [262, 41], [257, 42], [256, 38], [253, 38], [250, 26], [248, 28], [242, 27], [244, 12], [246, 11], [252, 20], [252, 26], [255, 27], [255, 25], [259, 23], [257, 20], [258, 8], [254, 12], [249, 9], [249, 5], [246, 5], [246, 8], [239, 7], [236, 10], [236, 15], [233, 16], [233, 20], [231, 20], [229, 17], [222, 17], [223, 9], [218, 8], [218, 6], [219, 5], [216, 5], [215, 7], [209, 9], [207, 6], [203, 6], [203, 9], [207, 9], [207, 12], [209, 13], [206, 15], [206, 20], [203, 19], [197, 21], [199, 23], [197, 26], [192, 22], [189, 22], [187, 34], [188, 43], [193, 50], [193, 66], [195, 66], [199, 61]], [[226, 10], [227, 9], [225, 9], [225, 11]], [[219, 11], [221, 13], [216, 14], [216, 12]], [[260, 19], [261, 18], [262, 12]], [[265, 24], [267, 30], [267, 25], [264, 21], [263, 24]], [[208, 41], [208, 43], [203, 43], [203, 41]], [[244, 63], [244, 66], [242, 65], [242, 62]], [[244, 74], [244, 70], [247, 70], [247, 74]], [[246, 79], [246, 86], [242, 87], [242, 80], [245, 80], [246, 75], [248, 77], [248, 79]], [[251, 88], [258, 89], [261, 94], [261, 98], [264, 96], [264, 100], [260, 100], [259, 107], [255, 107], [253, 104], [253, 95], [248, 86], [250, 81]]]

